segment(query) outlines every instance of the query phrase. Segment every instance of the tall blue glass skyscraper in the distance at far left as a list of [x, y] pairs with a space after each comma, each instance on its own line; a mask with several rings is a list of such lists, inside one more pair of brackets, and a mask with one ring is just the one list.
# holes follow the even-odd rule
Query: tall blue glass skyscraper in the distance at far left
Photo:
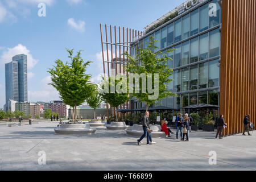
[[9, 100], [27, 102], [27, 55], [16, 55], [5, 64], [6, 111]]

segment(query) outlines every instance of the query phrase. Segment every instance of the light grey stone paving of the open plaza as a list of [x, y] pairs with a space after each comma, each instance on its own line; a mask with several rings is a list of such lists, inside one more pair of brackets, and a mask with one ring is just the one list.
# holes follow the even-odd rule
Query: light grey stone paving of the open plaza
[[[97, 127], [93, 135], [58, 135], [57, 122], [7, 127], [0, 125], [1, 170], [256, 170], [256, 133], [215, 139], [215, 133], [193, 131], [189, 142], [154, 138], [138, 146], [126, 131]], [[173, 131], [174, 133], [175, 130]], [[39, 152], [46, 165], [39, 165]], [[209, 152], [217, 164], [209, 164]]]

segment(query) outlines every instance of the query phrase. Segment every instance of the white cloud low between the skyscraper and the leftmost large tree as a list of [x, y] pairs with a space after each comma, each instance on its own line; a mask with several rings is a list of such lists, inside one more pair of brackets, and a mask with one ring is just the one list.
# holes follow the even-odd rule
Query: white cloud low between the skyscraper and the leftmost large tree
[[42, 88], [40, 90], [32, 92], [28, 90], [28, 100], [32, 102], [59, 100], [59, 93], [52, 85], [48, 85], [49, 83], [51, 83], [51, 76], [44, 77], [41, 80]]

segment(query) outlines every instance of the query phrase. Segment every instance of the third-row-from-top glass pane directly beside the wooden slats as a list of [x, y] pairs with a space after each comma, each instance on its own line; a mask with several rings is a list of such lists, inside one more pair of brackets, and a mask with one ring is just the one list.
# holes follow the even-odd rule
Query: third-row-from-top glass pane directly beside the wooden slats
[[219, 85], [220, 69], [218, 68], [218, 60], [209, 62], [209, 87], [216, 87]]

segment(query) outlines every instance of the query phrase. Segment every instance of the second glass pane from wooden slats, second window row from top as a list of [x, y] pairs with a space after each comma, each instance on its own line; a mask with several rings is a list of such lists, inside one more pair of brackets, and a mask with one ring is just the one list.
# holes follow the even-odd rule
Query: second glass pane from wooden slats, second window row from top
[[209, 38], [208, 33], [199, 37], [199, 60], [208, 59]]

